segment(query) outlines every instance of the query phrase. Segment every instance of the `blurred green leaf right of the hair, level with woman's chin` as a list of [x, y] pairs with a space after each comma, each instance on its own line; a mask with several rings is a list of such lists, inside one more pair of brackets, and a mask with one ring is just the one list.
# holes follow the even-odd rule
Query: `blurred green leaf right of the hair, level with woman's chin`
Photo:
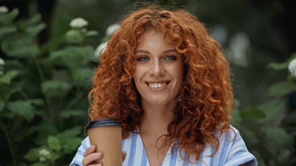
[[284, 100], [272, 100], [259, 105], [258, 108], [265, 113], [264, 121], [267, 121], [275, 118], [284, 109], [284, 106]]

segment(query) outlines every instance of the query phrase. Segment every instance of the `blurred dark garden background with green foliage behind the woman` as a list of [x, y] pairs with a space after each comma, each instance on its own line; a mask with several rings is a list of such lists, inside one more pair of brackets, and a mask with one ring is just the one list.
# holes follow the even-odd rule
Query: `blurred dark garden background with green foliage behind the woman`
[[[99, 52], [136, 1], [0, 0], [0, 166], [69, 166]], [[296, 1], [158, 3], [187, 9], [222, 45], [231, 124], [259, 166], [296, 166]]]

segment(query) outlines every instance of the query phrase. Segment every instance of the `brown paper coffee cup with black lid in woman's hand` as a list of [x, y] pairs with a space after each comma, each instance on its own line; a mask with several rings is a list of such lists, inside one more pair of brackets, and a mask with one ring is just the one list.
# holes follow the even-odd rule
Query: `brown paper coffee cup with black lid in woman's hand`
[[86, 126], [90, 144], [96, 145], [96, 152], [103, 154], [95, 164], [122, 166], [121, 127], [121, 123], [113, 118], [92, 121]]

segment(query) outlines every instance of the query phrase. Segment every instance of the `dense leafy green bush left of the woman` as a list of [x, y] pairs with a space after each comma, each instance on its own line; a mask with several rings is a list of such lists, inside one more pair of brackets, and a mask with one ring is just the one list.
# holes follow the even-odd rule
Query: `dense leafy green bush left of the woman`
[[18, 12], [0, 15], [1, 51], [10, 58], [0, 75], [1, 130], [13, 165], [61, 166], [71, 161], [85, 137], [81, 124], [87, 120], [88, 102], [82, 94], [88, 94], [85, 85], [98, 62], [90, 59], [94, 48], [84, 40], [98, 32], [71, 29], [58, 47], [39, 46], [36, 37], [46, 28], [41, 15], [14, 22]]

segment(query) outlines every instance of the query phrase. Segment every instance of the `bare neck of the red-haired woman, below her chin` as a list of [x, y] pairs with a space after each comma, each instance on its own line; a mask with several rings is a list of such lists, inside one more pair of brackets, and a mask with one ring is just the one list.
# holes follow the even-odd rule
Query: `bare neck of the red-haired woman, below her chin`
[[176, 100], [164, 105], [153, 105], [142, 100], [144, 115], [139, 130], [142, 135], [160, 136], [167, 134], [167, 127], [173, 121], [174, 114], [172, 110], [175, 107]]

